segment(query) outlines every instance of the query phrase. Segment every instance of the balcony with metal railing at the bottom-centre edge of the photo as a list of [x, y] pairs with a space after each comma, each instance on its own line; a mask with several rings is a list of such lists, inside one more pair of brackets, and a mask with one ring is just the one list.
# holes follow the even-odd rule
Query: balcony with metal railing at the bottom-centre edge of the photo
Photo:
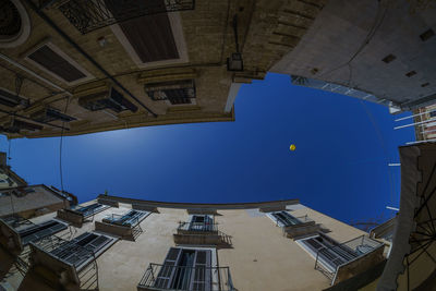
[[235, 291], [229, 267], [183, 267], [149, 264], [141, 282], [140, 291], [198, 290]]

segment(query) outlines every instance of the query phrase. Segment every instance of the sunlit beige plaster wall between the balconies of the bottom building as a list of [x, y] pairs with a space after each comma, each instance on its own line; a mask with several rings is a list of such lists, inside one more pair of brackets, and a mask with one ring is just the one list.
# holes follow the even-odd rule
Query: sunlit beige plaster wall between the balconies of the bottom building
[[[130, 205], [120, 204], [120, 208], [108, 208], [95, 215], [94, 221], [129, 209]], [[164, 262], [168, 250], [174, 246], [172, 234], [178, 222], [186, 221], [189, 214], [185, 209], [158, 210], [158, 214], [150, 214], [142, 221], [144, 233], [135, 242], [120, 240], [98, 257], [100, 290], [136, 290], [148, 264]], [[331, 230], [328, 235], [339, 242], [363, 234], [306, 207], [291, 214], [295, 217], [307, 215], [317, 223], [323, 223]], [[37, 221], [52, 216], [39, 217]], [[281, 229], [265, 214], [257, 209], [218, 210], [215, 219], [219, 230], [232, 237], [231, 248], [217, 250], [217, 262], [220, 267], [230, 267], [238, 290], [322, 290], [329, 286], [330, 280], [314, 269], [315, 259], [293, 240], [283, 237]], [[69, 239], [92, 231], [94, 221], [59, 235]]]

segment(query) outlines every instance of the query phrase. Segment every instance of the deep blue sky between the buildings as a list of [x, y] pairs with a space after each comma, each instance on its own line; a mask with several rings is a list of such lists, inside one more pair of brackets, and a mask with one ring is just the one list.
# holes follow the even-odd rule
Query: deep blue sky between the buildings
[[[400, 169], [387, 163], [399, 162], [398, 146], [414, 141], [414, 130], [393, 131], [393, 120], [408, 113], [365, 106], [268, 74], [241, 87], [235, 122], [64, 137], [64, 189], [81, 202], [105, 190], [173, 202], [300, 198], [346, 222], [387, 218], [400, 191]], [[8, 141], [0, 142], [7, 151]], [[11, 158], [29, 183], [60, 187], [59, 137], [13, 140]]]

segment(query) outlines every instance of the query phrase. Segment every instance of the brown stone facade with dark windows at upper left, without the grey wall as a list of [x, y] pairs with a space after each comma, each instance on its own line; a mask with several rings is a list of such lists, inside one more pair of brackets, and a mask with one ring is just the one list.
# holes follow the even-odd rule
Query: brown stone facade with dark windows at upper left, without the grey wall
[[3, 2], [0, 125], [9, 137], [232, 121], [240, 85], [263, 78], [324, 3]]

